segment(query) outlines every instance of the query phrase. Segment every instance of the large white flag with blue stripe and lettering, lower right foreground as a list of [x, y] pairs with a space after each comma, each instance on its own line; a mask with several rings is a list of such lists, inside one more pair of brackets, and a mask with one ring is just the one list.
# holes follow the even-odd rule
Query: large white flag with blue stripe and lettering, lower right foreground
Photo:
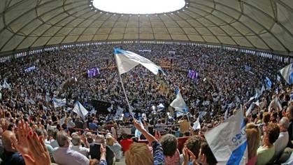
[[246, 164], [248, 161], [243, 110], [238, 110], [204, 136], [218, 164]]

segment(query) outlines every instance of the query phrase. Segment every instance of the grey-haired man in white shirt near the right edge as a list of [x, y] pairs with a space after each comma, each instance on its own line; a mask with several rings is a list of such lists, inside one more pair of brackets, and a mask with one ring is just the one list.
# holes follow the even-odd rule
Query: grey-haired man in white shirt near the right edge
[[288, 141], [289, 141], [289, 134], [288, 134], [288, 127], [289, 127], [289, 119], [287, 117], [283, 117], [278, 126], [280, 127], [280, 135], [277, 139], [277, 141], [274, 143], [275, 145], [275, 155], [273, 158], [277, 159], [278, 156], [283, 152], [283, 150], [286, 148]]

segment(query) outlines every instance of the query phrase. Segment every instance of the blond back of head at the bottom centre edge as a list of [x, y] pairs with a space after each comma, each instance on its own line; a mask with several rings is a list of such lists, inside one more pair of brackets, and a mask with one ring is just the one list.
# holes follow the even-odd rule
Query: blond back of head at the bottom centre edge
[[152, 165], [154, 164], [154, 157], [145, 143], [133, 143], [129, 150], [125, 152], [125, 163], [127, 165]]

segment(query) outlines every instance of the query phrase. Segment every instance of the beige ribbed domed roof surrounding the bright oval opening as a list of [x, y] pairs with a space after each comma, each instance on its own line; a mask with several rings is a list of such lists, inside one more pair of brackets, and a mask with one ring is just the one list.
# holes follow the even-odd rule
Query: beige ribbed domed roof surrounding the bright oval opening
[[292, 0], [189, 0], [172, 13], [122, 15], [89, 0], [1, 0], [0, 56], [93, 41], [187, 41], [293, 55]]

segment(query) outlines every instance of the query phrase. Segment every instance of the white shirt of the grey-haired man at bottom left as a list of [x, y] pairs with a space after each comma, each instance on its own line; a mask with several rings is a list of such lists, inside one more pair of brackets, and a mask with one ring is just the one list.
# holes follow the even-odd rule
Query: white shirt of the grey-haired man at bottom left
[[84, 165], [90, 164], [90, 160], [85, 155], [71, 150], [70, 148], [58, 148], [53, 152], [53, 158], [56, 164], [62, 165]]

